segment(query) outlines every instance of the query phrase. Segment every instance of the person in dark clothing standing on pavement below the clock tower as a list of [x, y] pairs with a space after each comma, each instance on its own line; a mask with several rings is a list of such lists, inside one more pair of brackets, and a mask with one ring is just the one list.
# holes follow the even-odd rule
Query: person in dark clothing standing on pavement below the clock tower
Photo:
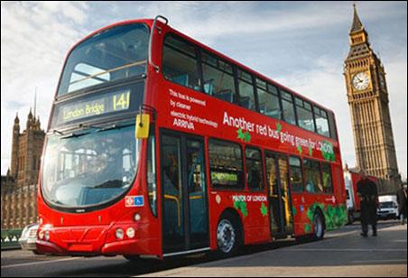
[[378, 206], [378, 191], [376, 183], [366, 176], [365, 171], [360, 171], [361, 180], [357, 182], [357, 195], [361, 202], [361, 236], [368, 236], [368, 225], [373, 228], [376, 236], [376, 209]]

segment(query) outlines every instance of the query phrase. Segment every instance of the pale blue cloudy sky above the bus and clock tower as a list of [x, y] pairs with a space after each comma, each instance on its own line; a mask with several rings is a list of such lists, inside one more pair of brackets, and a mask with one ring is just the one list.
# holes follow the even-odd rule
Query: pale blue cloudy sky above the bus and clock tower
[[[46, 127], [65, 56], [111, 23], [153, 18], [334, 110], [343, 163], [356, 165], [343, 76], [353, 2], [2, 2], [1, 173], [10, 166], [12, 127], [33, 107]], [[357, 2], [385, 66], [399, 171], [407, 177], [407, 3]]]

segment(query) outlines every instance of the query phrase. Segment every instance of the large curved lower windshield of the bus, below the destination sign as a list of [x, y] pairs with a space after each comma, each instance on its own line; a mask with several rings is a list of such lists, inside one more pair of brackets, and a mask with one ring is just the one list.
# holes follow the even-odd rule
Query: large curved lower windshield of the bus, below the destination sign
[[50, 135], [43, 161], [42, 195], [65, 208], [114, 200], [130, 189], [139, 150], [134, 122]]

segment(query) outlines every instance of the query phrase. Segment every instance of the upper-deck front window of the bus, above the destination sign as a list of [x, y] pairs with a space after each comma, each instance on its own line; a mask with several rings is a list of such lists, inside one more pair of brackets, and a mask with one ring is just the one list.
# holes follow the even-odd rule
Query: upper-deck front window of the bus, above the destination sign
[[149, 29], [143, 23], [98, 32], [73, 51], [64, 67], [58, 96], [145, 73]]

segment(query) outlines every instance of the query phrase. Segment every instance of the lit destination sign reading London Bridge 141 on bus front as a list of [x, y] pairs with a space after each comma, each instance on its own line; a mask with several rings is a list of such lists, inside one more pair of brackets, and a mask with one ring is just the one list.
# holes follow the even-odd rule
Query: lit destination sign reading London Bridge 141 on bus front
[[101, 116], [127, 110], [130, 107], [130, 89], [116, 91], [100, 97], [76, 101], [58, 107], [57, 123], [76, 121], [89, 116]]

